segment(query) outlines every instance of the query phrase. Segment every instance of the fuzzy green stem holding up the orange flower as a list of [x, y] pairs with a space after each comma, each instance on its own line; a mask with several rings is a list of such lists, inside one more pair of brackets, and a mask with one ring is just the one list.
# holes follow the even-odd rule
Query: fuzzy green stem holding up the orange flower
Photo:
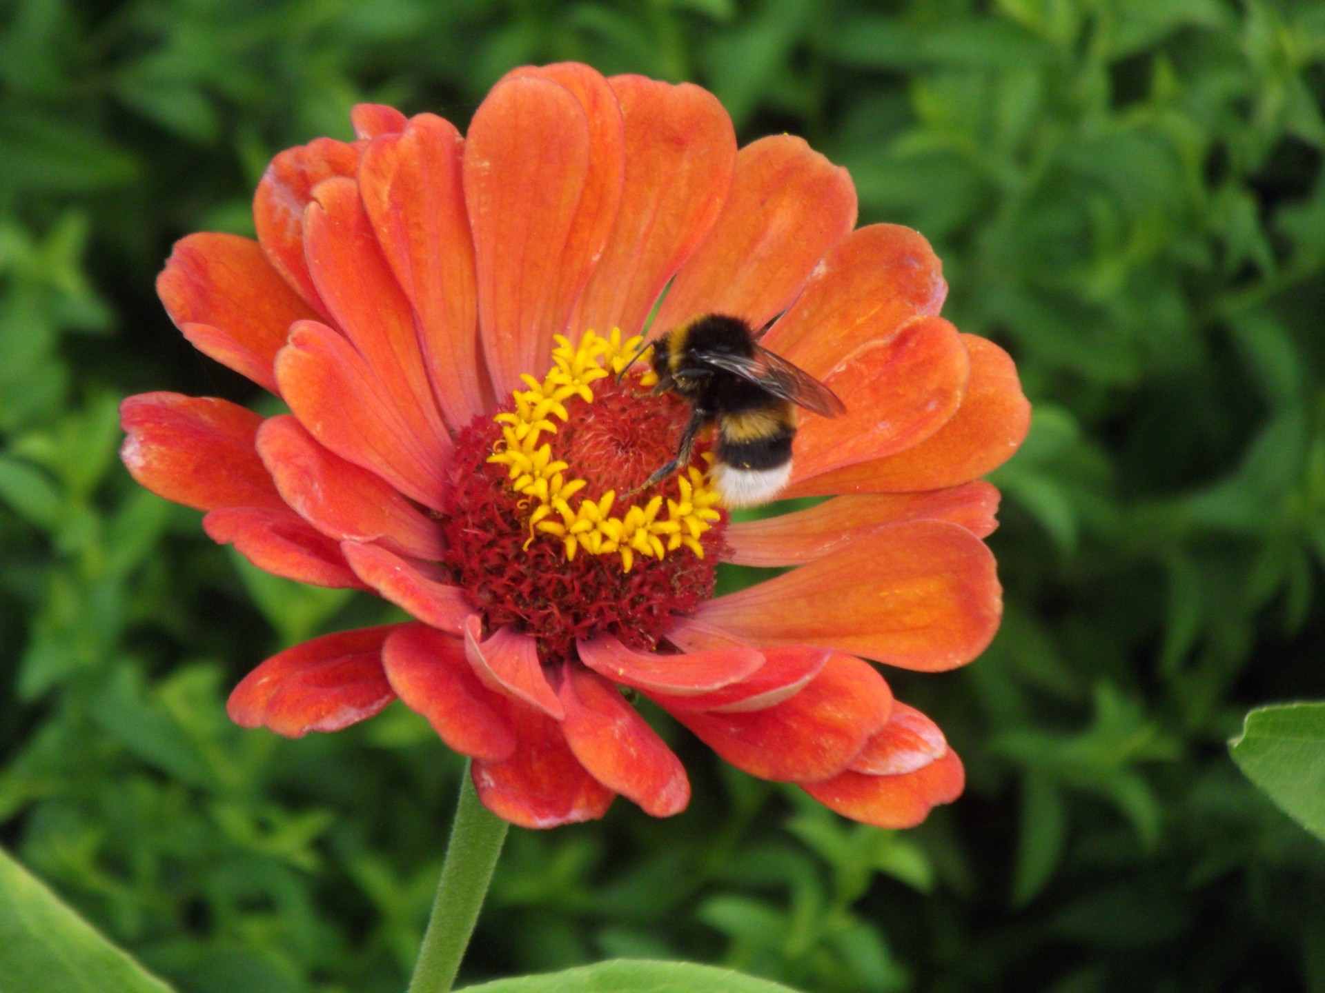
[[456, 981], [509, 826], [478, 801], [469, 763], [465, 763], [456, 822], [409, 993], [447, 993]]

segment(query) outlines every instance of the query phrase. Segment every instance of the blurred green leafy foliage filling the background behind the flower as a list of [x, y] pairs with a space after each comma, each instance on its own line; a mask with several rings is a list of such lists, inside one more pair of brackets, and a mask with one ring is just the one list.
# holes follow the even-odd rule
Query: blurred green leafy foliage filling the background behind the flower
[[258, 402], [152, 278], [184, 233], [250, 230], [270, 155], [360, 99], [462, 126], [564, 58], [696, 79], [743, 139], [847, 164], [1036, 413], [996, 474], [998, 641], [893, 679], [967, 796], [865, 829], [662, 726], [692, 809], [514, 831], [470, 978], [633, 955], [824, 993], [1325, 990], [1325, 851], [1223, 747], [1325, 698], [1320, 0], [4, 0], [0, 841], [187, 993], [401, 988], [458, 763], [400, 707], [229, 726], [253, 663], [382, 608], [136, 489], [115, 402]]

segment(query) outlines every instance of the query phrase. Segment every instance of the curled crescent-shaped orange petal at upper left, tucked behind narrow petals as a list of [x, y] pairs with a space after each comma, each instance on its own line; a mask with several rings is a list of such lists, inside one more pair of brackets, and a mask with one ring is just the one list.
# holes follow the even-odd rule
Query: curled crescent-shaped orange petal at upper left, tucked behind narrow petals
[[318, 314], [329, 311], [303, 257], [303, 208], [313, 187], [331, 176], [352, 176], [359, 150], [331, 138], [286, 148], [272, 159], [253, 196], [253, 224], [268, 260]]

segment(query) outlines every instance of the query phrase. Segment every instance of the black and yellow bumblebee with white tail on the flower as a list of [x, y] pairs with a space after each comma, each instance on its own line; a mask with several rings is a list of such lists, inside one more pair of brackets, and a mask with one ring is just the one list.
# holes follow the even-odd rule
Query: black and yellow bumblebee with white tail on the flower
[[839, 417], [845, 405], [804, 369], [757, 344], [758, 335], [739, 318], [709, 314], [653, 343], [652, 393], [676, 393], [690, 404], [676, 458], [640, 486], [666, 479], [690, 461], [694, 438], [717, 425], [710, 479], [727, 507], [771, 500], [791, 477], [791, 441], [796, 406]]

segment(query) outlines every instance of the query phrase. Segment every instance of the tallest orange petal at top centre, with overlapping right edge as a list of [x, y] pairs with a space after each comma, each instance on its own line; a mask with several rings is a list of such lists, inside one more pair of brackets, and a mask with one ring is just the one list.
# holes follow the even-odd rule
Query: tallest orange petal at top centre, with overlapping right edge
[[519, 385], [519, 373], [547, 367], [553, 335], [567, 330], [607, 241], [616, 208], [606, 211], [606, 187], [615, 184], [620, 196], [624, 167], [619, 139], [615, 166], [604, 168], [594, 148], [602, 128], [603, 115], [591, 119], [566, 86], [527, 77], [494, 86], [469, 127], [465, 203], [484, 355], [498, 397]]

